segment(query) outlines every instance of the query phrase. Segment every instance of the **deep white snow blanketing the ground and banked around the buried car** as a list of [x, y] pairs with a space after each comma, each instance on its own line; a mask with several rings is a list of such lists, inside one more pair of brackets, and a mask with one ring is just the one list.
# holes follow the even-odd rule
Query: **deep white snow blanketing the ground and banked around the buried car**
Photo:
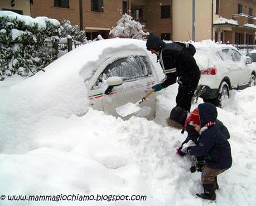
[[[120, 52], [145, 46], [137, 40], [132, 40], [136, 47], [131, 41], [118, 41], [123, 43]], [[45, 72], [0, 82], [0, 194], [136, 194], [147, 195], [146, 202], [6, 199], [1, 205], [209, 205], [194, 197], [202, 187], [200, 173], [190, 173], [191, 158], [176, 155], [186, 134], [165, 126], [175, 106], [177, 84], [157, 93], [154, 121], [124, 121], [88, 106], [84, 81], [95, 70], [96, 60], [108, 58], [105, 51], [112, 55], [110, 47], [117, 45], [102, 40], [81, 46]], [[163, 76], [156, 56], [151, 58]], [[218, 176], [220, 189], [211, 205], [255, 205], [255, 104], [256, 87], [250, 87], [231, 91], [228, 106], [218, 108], [218, 119], [230, 131], [233, 166]]]

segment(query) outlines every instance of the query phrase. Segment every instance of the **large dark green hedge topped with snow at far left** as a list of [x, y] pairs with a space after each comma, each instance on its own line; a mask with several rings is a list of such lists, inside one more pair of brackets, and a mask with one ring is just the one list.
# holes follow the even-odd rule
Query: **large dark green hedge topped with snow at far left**
[[63, 28], [56, 19], [0, 11], [0, 80], [31, 76], [57, 58]]

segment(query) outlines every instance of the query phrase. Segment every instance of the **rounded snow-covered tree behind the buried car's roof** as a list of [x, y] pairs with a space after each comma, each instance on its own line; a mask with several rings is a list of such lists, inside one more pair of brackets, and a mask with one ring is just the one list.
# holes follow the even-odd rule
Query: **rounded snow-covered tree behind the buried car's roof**
[[134, 21], [131, 16], [125, 13], [117, 22], [117, 26], [109, 32], [109, 35], [144, 40], [144, 36], [149, 35], [149, 33], [144, 32], [143, 27], [141, 23]]

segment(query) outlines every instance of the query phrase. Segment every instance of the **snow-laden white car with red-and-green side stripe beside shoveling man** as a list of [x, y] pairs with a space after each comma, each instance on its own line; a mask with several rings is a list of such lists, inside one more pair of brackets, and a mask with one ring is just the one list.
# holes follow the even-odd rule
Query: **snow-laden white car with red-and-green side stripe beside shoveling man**
[[[84, 53], [81, 76], [89, 95], [89, 105], [96, 110], [119, 116], [115, 109], [128, 102], [136, 103], [158, 81], [146, 50], [146, 42], [131, 39], [109, 39], [88, 43], [70, 52]], [[61, 59], [69, 58], [69, 54]], [[77, 59], [70, 61], [81, 61]], [[155, 94], [140, 105], [133, 114], [153, 119]], [[128, 119], [131, 115], [125, 117]]]

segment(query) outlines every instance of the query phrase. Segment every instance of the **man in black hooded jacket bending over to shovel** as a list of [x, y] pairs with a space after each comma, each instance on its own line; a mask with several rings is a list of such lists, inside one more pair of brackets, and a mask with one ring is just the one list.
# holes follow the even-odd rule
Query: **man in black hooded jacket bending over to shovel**
[[181, 42], [165, 43], [152, 34], [149, 35], [146, 46], [147, 50], [157, 55], [163, 73], [166, 75], [161, 84], [154, 85], [152, 89], [160, 91], [175, 84], [178, 77], [176, 104], [190, 111], [192, 96], [200, 79], [199, 67], [193, 57], [195, 47]]

